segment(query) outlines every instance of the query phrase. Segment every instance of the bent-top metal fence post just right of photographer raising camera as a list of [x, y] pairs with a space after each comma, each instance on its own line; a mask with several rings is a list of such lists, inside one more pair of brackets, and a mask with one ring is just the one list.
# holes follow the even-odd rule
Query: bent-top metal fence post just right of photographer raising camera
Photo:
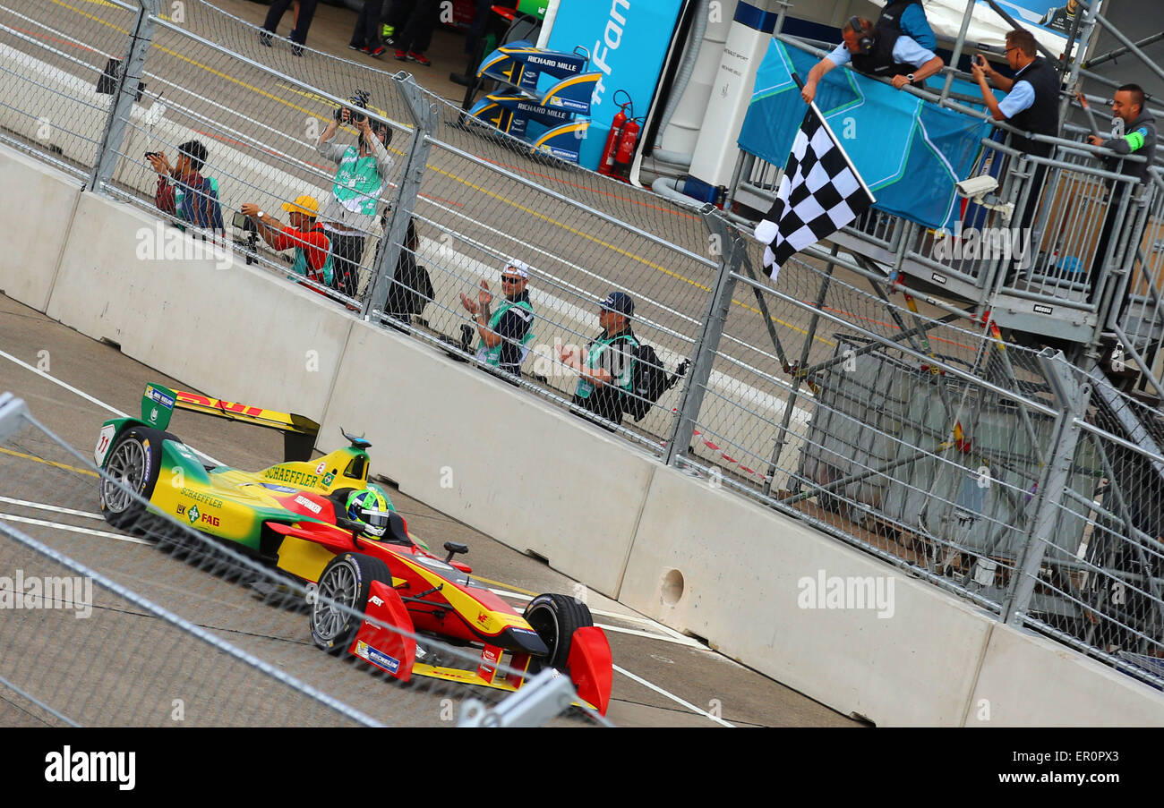
[[392, 201], [392, 215], [382, 236], [384, 249], [379, 251], [379, 263], [372, 271], [368, 294], [364, 295], [360, 312], [365, 320], [377, 308], [376, 303], [379, 303], [381, 312], [388, 306], [388, 294], [396, 277], [396, 264], [400, 259], [400, 250], [404, 249], [407, 238], [409, 222], [412, 221], [417, 194], [420, 193], [420, 183], [432, 149], [430, 136], [436, 131], [436, 124], [440, 122], [436, 110], [420, 92], [416, 79], [409, 74], [397, 74], [392, 80], [404, 98], [416, 128], [409, 143], [409, 153], [404, 158], [404, 171], [396, 188], [396, 199]]

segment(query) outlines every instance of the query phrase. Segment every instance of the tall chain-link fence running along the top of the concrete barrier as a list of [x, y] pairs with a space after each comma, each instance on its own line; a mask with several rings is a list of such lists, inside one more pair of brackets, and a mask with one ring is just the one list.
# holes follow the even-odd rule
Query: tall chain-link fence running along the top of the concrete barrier
[[[5, 140], [289, 283], [585, 413], [715, 485], [1159, 681], [1144, 662], [1162, 656], [1159, 498], [1145, 498], [1164, 470], [1158, 410], [1110, 384], [1094, 360], [1072, 371], [1003, 342], [986, 309], [902, 292], [868, 255], [839, 255], [851, 249], [843, 236], [831, 256], [817, 251], [828, 260], [792, 260], [778, 284], [759, 283], [758, 248], [711, 209], [676, 207], [537, 152], [404, 74], [297, 51], [200, 0], [183, 8], [182, 20], [116, 2], [86, 10], [69, 34], [71, 52], [47, 44], [61, 28], [47, 22], [48, 0], [19, 12], [0, 0], [0, 45], [17, 52], [6, 64], [22, 88], [6, 102], [6, 121], [27, 129], [43, 108], [38, 87], [77, 107], [56, 141], [9, 122]], [[54, 85], [62, 72], [73, 81]], [[112, 95], [88, 90], [99, 73]], [[367, 109], [356, 91], [367, 91]], [[335, 122], [340, 108], [367, 115], [362, 140], [350, 121]], [[392, 134], [391, 166], [369, 140], [377, 123]], [[321, 137], [343, 148], [320, 150]], [[774, 185], [765, 166], [748, 171]], [[1108, 241], [1101, 250], [1103, 216], [1069, 219], [1063, 199], [1128, 186], [1119, 221], [1140, 216], [1149, 235], [1158, 202], [1149, 210], [1126, 178], [1081, 164], [1050, 173], [1042, 202], [1028, 206], [1027, 174], [1008, 172], [1001, 201], [1014, 203], [1016, 220], [1028, 208], [1038, 215], [1043, 238], [1025, 269], [1038, 269], [1041, 284], [1088, 286], [1080, 279], [1102, 264], [1102, 288], [1064, 298], [1094, 313], [1093, 293], [1117, 293], [1124, 279], [1113, 267], [1136, 245]], [[311, 207], [301, 195], [318, 206], [326, 249], [276, 238], [294, 257], [289, 264], [263, 246], [263, 228], [234, 228], [244, 205], [254, 207], [240, 224], [260, 220], [258, 209], [286, 223]], [[979, 213], [979, 226], [1001, 221], [993, 208]], [[1006, 274], [1005, 262], [938, 260], [936, 235], [899, 217], [871, 212], [849, 235], [863, 250], [883, 250], [887, 264], [900, 255], [978, 291], [1048, 296], [1030, 272]], [[1145, 238], [1127, 289], [1155, 312], [1158, 250]], [[1076, 264], [1064, 250], [1078, 253]], [[502, 286], [506, 273], [518, 287]], [[532, 310], [516, 333], [501, 324], [511, 303], [525, 302], [513, 288]], [[609, 296], [616, 292], [633, 309]], [[613, 336], [602, 330], [611, 322], [604, 310], [629, 315], [627, 335], [653, 348], [666, 371], [654, 388], [633, 371], [648, 364], [638, 351], [606, 378], [580, 376]], [[1152, 377], [1158, 316], [1141, 320], [1148, 324], [1122, 321], [1135, 334], [1117, 329], [1117, 346], [1137, 351], [1129, 364]], [[611, 384], [622, 388], [617, 408], [583, 395]], [[644, 403], [638, 417], [624, 417], [633, 401]], [[1127, 600], [1115, 600], [1116, 586]]]

